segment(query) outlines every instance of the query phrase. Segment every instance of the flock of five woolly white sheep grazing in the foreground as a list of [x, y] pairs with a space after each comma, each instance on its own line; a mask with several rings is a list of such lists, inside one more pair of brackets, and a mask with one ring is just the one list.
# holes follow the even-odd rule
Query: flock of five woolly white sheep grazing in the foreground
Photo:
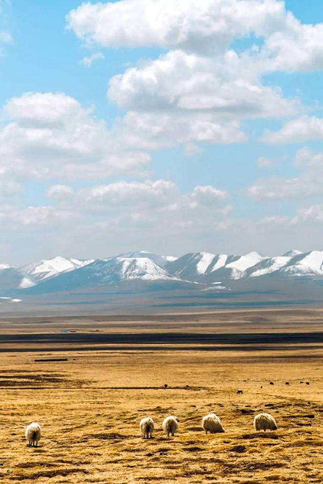
[[[171, 435], [175, 436], [175, 432], [178, 429], [179, 419], [174, 415], [166, 417], [162, 422], [162, 430], [167, 434], [167, 438]], [[152, 438], [152, 434], [155, 428], [154, 420], [151, 417], [145, 417], [139, 424], [142, 438]], [[202, 418], [202, 428], [206, 434], [222, 433], [224, 428], [220, 418], [215, 414], [208, 414]], [[277, 430], [275, 418], [270, 414], [262, 413], [254, 417], [254, 429], [255, 430]], [[38, 447], [38, 441], [41, 439], [41, 427], [39, 423], [32, 422], [26, 428], [25, 432], [26, 440], [28, 441], [28, 447]]]

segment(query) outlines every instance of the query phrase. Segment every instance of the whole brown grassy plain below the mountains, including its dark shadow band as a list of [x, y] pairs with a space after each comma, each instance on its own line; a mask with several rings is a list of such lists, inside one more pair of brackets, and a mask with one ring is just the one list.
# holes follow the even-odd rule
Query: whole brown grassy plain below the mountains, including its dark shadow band
[[[322, 319], [296, 309], [0, 321], [1, 482], [322, 483]], [[210, 411], [224, 434], [202, 432]], [[260, 411], [276, 432], [254, 431]], [[180, 424], [167, 440], [169, 414]], [[147, 415], [152, 440], [139, 433]], [[24, 440], [33, 420], [38, 448]]]

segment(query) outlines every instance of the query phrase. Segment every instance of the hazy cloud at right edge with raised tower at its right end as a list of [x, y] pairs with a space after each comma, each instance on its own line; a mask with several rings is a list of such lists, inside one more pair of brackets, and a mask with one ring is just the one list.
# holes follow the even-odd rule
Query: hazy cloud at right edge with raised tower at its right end
[[293, 178], [270, 177], [258, 180], [248, 187], [247, 194], [255, 200], [304, 198], [323, 193], [323, 154], [313, 154], [307, 148], [300, 149], [294, 160], [301, 169]]

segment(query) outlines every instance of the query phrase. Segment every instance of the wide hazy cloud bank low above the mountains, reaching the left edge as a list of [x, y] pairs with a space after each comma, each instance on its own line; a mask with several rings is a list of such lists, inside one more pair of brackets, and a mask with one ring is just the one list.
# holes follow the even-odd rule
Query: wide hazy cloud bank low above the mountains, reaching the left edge
[[93, 255], [93, 250], [104, 248], [108, 235], [109, 247], [115, 244], [118, 252], [120, 244], [147, 246], [173, 237], [194, 237], [203, 244], [206, 236], [214, 237], [217, 225], [231, 212], [229, 195], [223, 190], [197, 185], [182, 194], [174, 182], [162, 179], [119, 181], [74, 191], [55, 185], [48, 194], [53, 206], [17, 209], [0, 205], [1, 233], [19, 234], [24, 243], [42, 234], [46, 247], [72, 244], [75, 251], [85, 242], [88, 245], [91, 237], [91, 250], [86, 250]]

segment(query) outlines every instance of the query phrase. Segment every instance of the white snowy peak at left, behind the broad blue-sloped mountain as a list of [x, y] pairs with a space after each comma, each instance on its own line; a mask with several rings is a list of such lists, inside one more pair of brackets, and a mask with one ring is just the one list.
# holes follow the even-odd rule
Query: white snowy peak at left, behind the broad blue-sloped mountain
[[92, 260], [84, 261], [80, 259], [66, 259], [65, 257], [57, 256], [53, 259], [42, 260], [35, 264], [27, 264], [22, 267], [22, 270], [32, 276], [36, 281], [44, 281], [51, 277], [55, 277], [63, 272], [78, 269], [84, 265], [91, 264]]

